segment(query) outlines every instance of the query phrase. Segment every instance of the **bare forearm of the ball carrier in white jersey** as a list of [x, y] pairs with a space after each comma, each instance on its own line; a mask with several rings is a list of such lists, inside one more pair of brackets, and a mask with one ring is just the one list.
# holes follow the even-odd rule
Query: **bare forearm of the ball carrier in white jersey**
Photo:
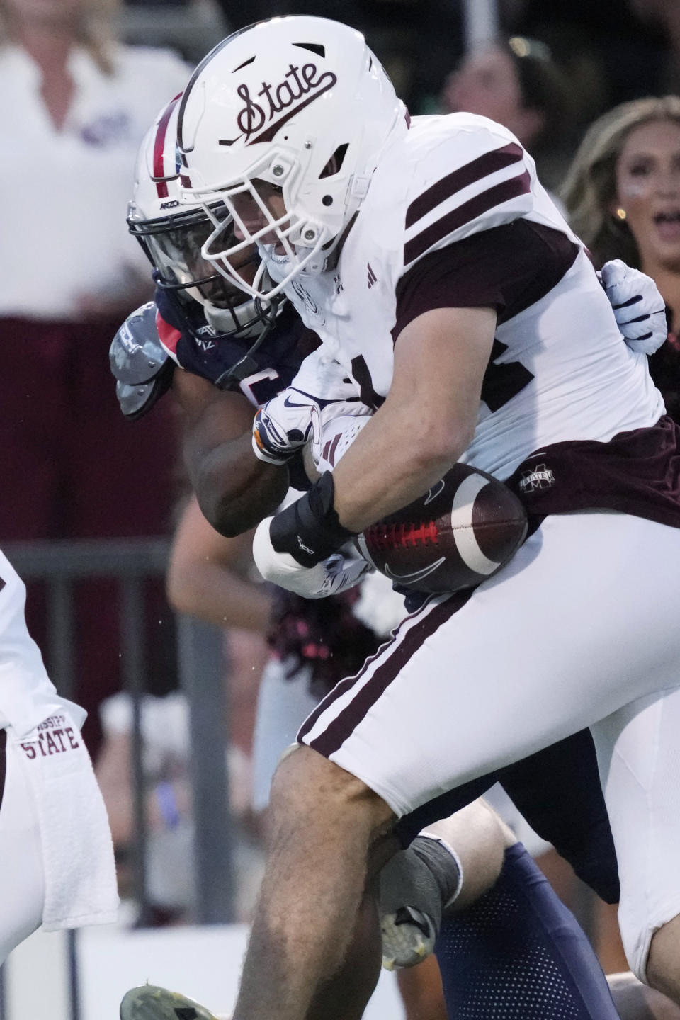
[[474, 434], [491, 353], [491, 308], [439, 308], [400, 334], [387, 398], [335, 470], [342, 524], [361, 531], [449, 470]]

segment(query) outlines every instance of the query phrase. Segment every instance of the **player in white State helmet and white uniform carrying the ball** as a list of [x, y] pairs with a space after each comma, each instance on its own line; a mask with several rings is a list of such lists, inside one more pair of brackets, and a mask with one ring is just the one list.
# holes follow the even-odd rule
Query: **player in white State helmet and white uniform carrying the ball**
[[[459, 459], [515, 488], [534, 526], [493, 580], [464, 605], [432, 599], [303, 726], [274, 781], [237, 1015], [308, 1014], [397, 819], [582, 726], [631, 967], [680, 1003], [680, 440], [582, 244], [507, 130], [409, 125], [362, 37], [322, 18], [217, 47], [178, 143], [187, 198], [221, 198], [237, 224], [222, 241], [213, 215], [204, 255], [248, 293], [284, 292], [376, 410], [332, 473], [260, 525], [265, 576], [318, 594], [320, 564]], [[230, 262], [253, 242], [263, 266], [244, 286]]]

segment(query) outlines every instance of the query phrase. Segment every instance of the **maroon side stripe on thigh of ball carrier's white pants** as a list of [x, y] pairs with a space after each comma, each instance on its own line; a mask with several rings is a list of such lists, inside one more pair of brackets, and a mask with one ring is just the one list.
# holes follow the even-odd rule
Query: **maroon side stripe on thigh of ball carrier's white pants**
[[[457, 595], [452, 595], [451, 598], [447, 599], [446, 602], [440, 603], [435, 606], [434, 609], [424, 616], [422, 620], [416, 623], [404, 636], [404, 640], [399, 644], [396, 644], [394, 652], [389, 653], [385, 657], [384, 662], [382, 662], [375, 669], [371, 678], [364, 684], [364, 686], [357, 692], [356, 697], [350, 702], [350, 704], [343, 709], [343, 711], [337, 715], [326, 727], [326, 729], [316, 736], [313, 741], [310, 741], [310, 748], [314, 748], [319, 754], [324, 755], [328, 758], [335, 751], [337, 751], [345, 741], [352, 735], [356, 727], [363, 721], [370, 709], [375, 705], [381, 695], [387, 690], [389, 684], [399, 675], [401, 670], [406, 666], [409, 659], [413, 658], [415, 653], [422, 648], [424, 642], [437, 630], [442, 623], [446, 623], [454, 613], [457, 613], [466, 602], [470, 599], [472, 591], [460, 592]], [[364, 666], [364, 670], [366, 666]], [[355, 678], [355, 680], [358, 677]], [[342, 681], [347, 682], [347, 681]], [[337, 684], [333, 687], [331, 694], [328, 696], [332, 698], [337, 691]], [[352, 686], [352, 683], [349, 684]], [[345, 690], [348, 690], [346, 687]], [[328, 699], [325, 699], [326, 706], [328, 704]], [[323, 703], [322, 703], [323, 704]], [[318, 711], [318, 710], [317, 710]], [[311, 727], [305, 726], [300, 731], [300, 736], [304, 736], [305, 732], [309, 732]], [[303, 732], [304, 730], [304, 732]]]

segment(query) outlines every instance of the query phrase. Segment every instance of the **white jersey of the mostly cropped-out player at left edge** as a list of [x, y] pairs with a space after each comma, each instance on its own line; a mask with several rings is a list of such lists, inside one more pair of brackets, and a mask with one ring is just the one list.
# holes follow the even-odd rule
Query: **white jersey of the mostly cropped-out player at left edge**
[[49, 716], [66, 711], [83, 725], [86, 712], [61, 698], [25, 625], [25, 584], [0, 553], [0, 726], [24, 736]]

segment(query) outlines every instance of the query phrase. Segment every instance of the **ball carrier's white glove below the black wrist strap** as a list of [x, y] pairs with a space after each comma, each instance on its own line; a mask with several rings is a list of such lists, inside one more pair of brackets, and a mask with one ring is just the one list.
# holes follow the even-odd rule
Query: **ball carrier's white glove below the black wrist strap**
[[349, 559], [334, 553], [315, 567], [303, 567], [290, 553], [277, 553], [271, 545], [271, 517], [260, 521], [253, 538], [255, 565], [265, 580], [278, 584], [304, 599], [325, 599], [357, 584], [370, 564], [361, 557]]

